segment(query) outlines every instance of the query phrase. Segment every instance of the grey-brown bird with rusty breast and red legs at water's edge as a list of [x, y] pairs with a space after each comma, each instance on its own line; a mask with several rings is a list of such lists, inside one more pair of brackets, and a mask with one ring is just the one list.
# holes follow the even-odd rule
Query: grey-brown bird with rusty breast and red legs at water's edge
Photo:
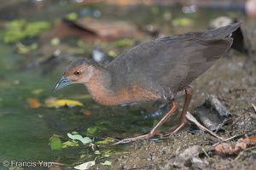
[[177, 110], [176, 97], [185, 94], [182, 115], [172, 133], [187, 122], [186, 113], [193, 89], [189, 86], [232, 45], [231, 34], [241, 26], [195, 31], [143, 42], [102, 66], [89, 58], [75, 59], [55, 85], [54, 91], [67, 85], [82, 83], [100, 105], [122, 105], [148, 100], [168, 100], [172, 107], [147, 134], [122, 139], [116, 144], [137, 139], [151, 139]]

